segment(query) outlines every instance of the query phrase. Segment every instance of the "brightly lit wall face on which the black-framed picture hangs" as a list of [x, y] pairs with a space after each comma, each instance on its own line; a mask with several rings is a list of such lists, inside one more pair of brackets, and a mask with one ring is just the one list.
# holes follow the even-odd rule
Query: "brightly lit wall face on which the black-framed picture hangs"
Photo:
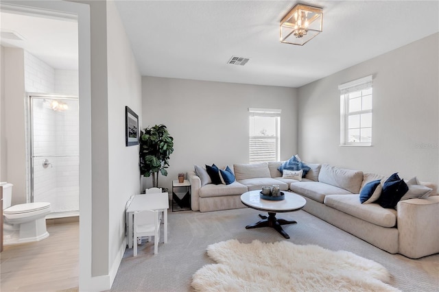
[[114, 1], [107, 1], [107, 66], [109, 216], [106, 220], [108, 273], [112, 283], [126, 249], [125, 205], [131, 195], [141, 193], [139, 145], [126, 147], [125, 106], [137, 112], [140, 121], [142, 117], [141, 75]]

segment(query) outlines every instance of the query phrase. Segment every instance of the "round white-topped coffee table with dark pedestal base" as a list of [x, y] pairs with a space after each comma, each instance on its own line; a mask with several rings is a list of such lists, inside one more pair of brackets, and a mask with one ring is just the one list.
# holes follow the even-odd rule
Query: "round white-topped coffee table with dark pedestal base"
[[285, 219], [277, 219], [277, 212], [294, 212], [300, 210], [305, 206], [307, 201], [295, 193], [283, 192], [285, 199], [281, 201], [271, 201], [268, 199], [261, 199], [259, 197], [260, 191], [249, 191], [241, 195], [242, 204], [249, 208], [268, 212], [268, 216], [259, 214], [261, 221], [246, 226], [246, 229], [260, 228], [260, 227], [272, 227], [274, 230], [282, 234], [285, 239], [289, 239], [289, 235], [282, 226], [285, 224], [295, 224], [296, 221], [290, 221]]

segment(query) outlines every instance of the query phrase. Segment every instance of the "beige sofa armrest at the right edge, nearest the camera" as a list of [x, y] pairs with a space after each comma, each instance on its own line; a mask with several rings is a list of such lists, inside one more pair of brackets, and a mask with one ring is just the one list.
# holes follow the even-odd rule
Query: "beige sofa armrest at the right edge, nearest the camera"
[[399, 253], [420, 258], [439, 252], [439, 196], [398, 203]]

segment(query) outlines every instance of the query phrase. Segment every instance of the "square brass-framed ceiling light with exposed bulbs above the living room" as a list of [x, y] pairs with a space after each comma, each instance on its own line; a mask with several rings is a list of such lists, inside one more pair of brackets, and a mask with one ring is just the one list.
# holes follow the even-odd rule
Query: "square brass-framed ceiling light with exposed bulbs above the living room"
[[281, 21], [281, 42], [305, 45], [322, 32], [322, 8], [297, 4]]

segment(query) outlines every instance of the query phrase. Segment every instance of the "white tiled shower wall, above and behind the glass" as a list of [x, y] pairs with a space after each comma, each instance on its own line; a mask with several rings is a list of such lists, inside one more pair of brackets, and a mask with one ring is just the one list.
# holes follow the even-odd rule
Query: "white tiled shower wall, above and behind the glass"
[[[78, 85], [78, 71], [54, 69], [25, 51], [28, 93], [78, 96]], [[69, 110], [56, 112], [44, 99], [34, 99], [34, 156], [47, 156], [34, 159], [34, 202], [50, 202], [51, 212], [79, 210], [78, 100], [64, 102]]]

